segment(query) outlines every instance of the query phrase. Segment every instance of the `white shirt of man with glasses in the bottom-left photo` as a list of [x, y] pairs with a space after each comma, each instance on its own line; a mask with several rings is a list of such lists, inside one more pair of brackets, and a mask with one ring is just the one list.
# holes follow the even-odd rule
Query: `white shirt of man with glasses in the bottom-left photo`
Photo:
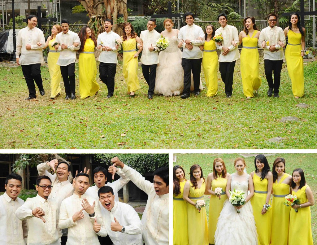
[[[40, 207], [44, 210], [45, 223], [42, 219], [34, 217], [32, 210]], [[26, 199], [25, 203], [16, 210], [16, 216], [20, 220], [28, 219], [28, 245], [60, 245], [61, 229], [58, 227], [58, 207], [57, 203], [48, 198], [36, 195], [36, 197]]]

